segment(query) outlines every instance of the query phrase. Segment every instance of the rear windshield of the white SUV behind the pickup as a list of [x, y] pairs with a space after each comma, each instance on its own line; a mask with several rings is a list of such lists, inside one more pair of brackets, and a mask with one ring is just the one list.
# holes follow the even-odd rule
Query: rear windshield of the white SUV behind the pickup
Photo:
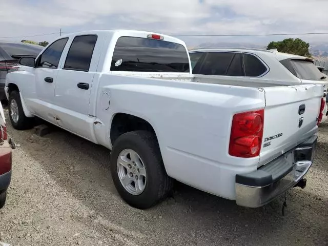
[[322, 80], [325, 75], [309, 60], [292, 59], [291, 64], [296, 72], [296, 76], [306, 80]]

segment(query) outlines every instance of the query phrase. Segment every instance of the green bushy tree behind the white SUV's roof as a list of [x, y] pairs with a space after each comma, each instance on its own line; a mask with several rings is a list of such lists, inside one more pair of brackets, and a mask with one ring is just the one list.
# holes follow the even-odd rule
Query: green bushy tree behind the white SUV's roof
[[267, 50], [277, 49], [279, 52], [289, 53], [294, 55], [302, 55], [311, 57], [309, 51], [310, 44], [304, 42], [300, 38], [286, 38], [279, 42], [271, 42]]

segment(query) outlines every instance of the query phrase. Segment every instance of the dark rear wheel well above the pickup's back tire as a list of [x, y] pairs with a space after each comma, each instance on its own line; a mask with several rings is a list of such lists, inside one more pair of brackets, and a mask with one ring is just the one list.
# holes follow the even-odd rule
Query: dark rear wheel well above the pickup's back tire
[[137, 130], [146, 130], [154, 133], [154, 128], [145, 119], [125, 113], [118, 113], [114, 116], [111, 125], [111, 142], [114, 144], [115, 140], [122, 134]]

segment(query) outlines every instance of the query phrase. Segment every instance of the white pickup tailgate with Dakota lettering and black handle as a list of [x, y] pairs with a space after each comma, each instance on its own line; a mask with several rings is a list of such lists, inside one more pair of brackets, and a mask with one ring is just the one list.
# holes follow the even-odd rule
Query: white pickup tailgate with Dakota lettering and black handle
[[317, 132], [321, 85], [264, 88], [265, 109], [259, 166]]

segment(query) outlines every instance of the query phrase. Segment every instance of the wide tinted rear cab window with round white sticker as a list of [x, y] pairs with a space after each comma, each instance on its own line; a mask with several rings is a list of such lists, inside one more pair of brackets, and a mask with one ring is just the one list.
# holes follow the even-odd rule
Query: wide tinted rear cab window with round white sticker
[[117, 40], [111, 71], [189, 72], [185, 47], [165, 40], [120, 37]]

